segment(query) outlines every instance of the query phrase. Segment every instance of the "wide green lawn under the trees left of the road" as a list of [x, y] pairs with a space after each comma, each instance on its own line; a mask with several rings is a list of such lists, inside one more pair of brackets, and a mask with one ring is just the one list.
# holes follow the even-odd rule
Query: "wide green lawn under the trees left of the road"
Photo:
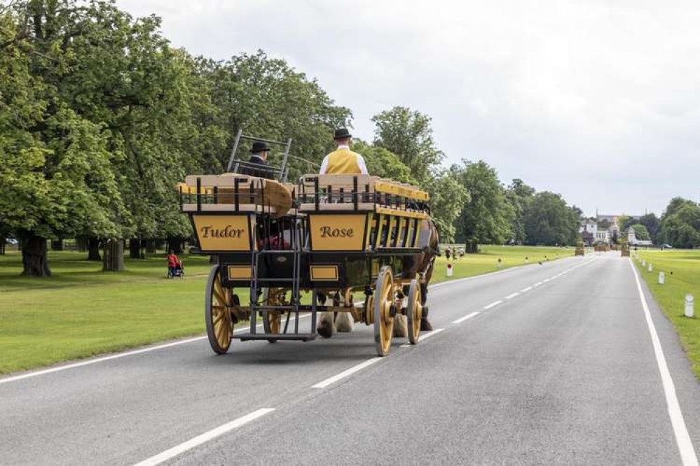
[[[482, 253], [453, 261], [455, 278], [573, 255], [573, 249], [482, 246]], [[0, 256], [0, 374], [87, 358], [205, 331], [207, 257], [182, 255], [184, 280], [165, 279], [165, 254], [127, 259], [127, 270], [102, 272], [85, 253], [50, 252], [53, 276], [20, 276], [22, 258]], [[444, 281], [447, 261], [437, 260], [432, 281]], [[242, 293], [242, 301], [247, 293]]]

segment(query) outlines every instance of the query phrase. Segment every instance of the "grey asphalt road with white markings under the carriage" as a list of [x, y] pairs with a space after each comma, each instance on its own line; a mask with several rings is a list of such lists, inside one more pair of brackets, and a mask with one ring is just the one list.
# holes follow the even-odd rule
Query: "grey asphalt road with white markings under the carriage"
[[429, 300], [438, 331], [387, 358], [357, 325], [0, 379], [0, 464], [695, 464], [700, 384], [629, 260], [518, 267]]

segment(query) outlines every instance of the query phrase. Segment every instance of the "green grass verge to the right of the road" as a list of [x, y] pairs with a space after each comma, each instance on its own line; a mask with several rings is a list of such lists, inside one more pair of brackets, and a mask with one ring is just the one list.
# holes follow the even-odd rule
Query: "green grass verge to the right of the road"
[[[647, 267], [642, 267], [639, 260], [633, 262], [647, 282], [654, 299], [673, 323], [693, 372], [700, 379], [700, 318], [697, 317], [700, 314], [700, 304], [695, 306], [695, 318], [684, 316], [685, 295], [690, 293], [696, 300], [700, 298], [700, 251], [639, 251], [639, 257], [646, 260]], [[649, 262], [653, 265], [651, 272], [648, 271]], [[664, 272], [664, 285], [659, 285], [659, 271]]]

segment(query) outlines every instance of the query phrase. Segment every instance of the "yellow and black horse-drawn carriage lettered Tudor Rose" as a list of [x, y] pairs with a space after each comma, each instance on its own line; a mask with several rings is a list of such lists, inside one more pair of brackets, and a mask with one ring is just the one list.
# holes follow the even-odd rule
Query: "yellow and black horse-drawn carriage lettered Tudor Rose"
[[[278, 180], [226, 173], [178, 187], [200, 252], [217, 257], [205, 301], [212, 349], [330, 337], [337, 316], [373, 325], [378, 355], [399, 319], [418, 343], [438, 243], [427, 193], [367, 175], [305, 175], [294, 185], [284, 162], [275, 171]], [[249, 330], [234, 333], [242, 320]]]

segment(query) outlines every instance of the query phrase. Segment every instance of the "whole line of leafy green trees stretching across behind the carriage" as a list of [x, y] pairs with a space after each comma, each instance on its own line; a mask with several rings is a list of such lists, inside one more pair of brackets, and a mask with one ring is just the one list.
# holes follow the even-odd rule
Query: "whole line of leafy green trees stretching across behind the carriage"
[[[442, 241], [476, 252], [580, 239], [582, 211], [561, 195], [506, 185], [484, 160], [445, 166], [430, 116], [394, 106], [371, 121], [373, 140], [352, 149], [370, 174], [430, 193]], [[95, 260], [102, 246], [107, 270], [123, 267], [126, 239], [135, 258], [154, 239], [179, 248], [192, 232], [174, 186], [224, 172], [238, 129], [291, 137], [294, 180], [313, 172], [303, 159], [334, 147], [337, 127], [352, 127], [350, 108], [262, 50], [215, 61], [173, 48], [159, 17], [113, 1], [11, 1], [0, 6], [0, 252], [20, 239], [22, 273], [47, 276], [47, 240], [76, 238]], [[700, 207], [681, 200], [654, 236], [695, 246]]]

